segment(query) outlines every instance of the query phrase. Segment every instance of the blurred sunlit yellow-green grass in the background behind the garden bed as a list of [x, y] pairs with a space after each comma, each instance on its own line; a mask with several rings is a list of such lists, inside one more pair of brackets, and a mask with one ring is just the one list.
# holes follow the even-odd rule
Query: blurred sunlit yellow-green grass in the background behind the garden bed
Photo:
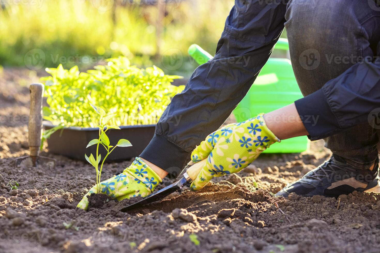
[[[29, 60], [38, 60], [36, 50], [44, 55], [42, 70], [60, 63], [84, 70], [124, 55], [138, 67], [155, 64], [186, 77], [197, 66], [188, 47], [196, 43], [214, 54], [233, 5], [234, 0], [0, 0], [0, 65], [28, 67]], [[178, 57], [183, 62], [172, 66]]]

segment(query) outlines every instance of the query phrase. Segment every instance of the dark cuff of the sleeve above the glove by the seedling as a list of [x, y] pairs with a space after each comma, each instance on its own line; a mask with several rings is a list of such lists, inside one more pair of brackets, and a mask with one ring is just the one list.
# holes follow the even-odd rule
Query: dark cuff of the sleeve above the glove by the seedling
[[189, 160], [190, 152], [155, 134], [149, 145], [142, 151], [141, 158], [167, 171], [168, 178], [176, 178]]

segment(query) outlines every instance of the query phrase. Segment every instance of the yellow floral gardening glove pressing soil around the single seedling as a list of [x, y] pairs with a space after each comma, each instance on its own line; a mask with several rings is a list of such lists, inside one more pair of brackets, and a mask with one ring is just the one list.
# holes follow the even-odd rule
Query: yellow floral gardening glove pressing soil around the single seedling
[[[126, 168], [123, 173], [101, 182], [100, 193], [118, 201], [136, 196], [145, 197], [150, 195], [160, 182], [162, 180], [157, 173], [139, 157], [136, 157], [132, 165]], [[95, 185], [84, 195], [77, 207], [87, 210], [89, 206], [87, 196], [96, 192], [97, 187]]]

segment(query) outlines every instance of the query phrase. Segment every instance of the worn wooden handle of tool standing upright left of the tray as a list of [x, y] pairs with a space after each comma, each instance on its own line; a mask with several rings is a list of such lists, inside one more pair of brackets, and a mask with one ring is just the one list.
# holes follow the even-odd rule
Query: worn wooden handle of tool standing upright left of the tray
[[30, 156], [38, 156], [41, 146], [42, 135], [42, 97], [44, 85], [42, 83], [32, 83], [30, 90], [30, 114], [28, 124], [28, 139]]

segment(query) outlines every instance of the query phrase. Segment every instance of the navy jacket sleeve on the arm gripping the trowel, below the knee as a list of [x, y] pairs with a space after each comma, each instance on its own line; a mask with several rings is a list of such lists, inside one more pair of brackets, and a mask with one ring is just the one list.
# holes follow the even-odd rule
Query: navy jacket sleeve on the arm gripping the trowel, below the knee
[[353, 65], [295, 104], [311, 140], [337, 134], [368, 120], [376, 123], [377, 113], [370, 115], [370, 112], [380, 107], [379, 60]]

